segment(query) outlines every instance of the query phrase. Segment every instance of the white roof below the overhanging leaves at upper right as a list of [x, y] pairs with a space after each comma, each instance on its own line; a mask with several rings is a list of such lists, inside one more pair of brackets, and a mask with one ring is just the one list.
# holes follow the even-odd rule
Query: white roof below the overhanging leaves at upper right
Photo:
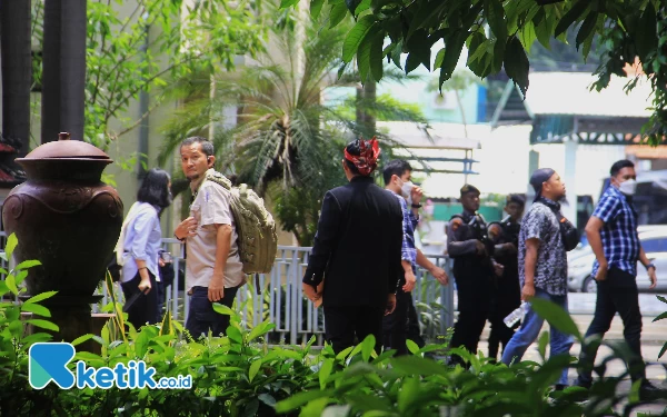
[[[526, 106], [535, 115], [581, 115], [607, 117], [649, 117], [653, 89], [646, 78], [626, 95], [631, 78], [614, 76], [609, 86], [597, 92], [590, 86], [597, 78], [586, 72], [532, 72]], [[511, 82], [511, 81], [510, 81]]]

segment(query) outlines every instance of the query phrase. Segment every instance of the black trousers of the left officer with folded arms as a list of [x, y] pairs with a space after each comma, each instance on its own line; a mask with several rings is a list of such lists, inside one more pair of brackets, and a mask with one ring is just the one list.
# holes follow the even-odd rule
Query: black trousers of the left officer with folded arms
[[[489, 317], [490, 280], [479, 276], [455, 276], [458, 292], [459, 317], [454, 326], [451, 347], [465, 347], [477, 355], [479, 337]], [[458, 360], [458, 359], [454, 359]]]

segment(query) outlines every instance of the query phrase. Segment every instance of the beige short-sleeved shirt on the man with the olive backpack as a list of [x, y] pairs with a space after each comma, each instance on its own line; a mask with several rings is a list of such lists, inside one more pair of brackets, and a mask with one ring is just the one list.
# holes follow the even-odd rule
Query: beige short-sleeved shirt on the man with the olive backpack
[[190, 216], [197, 220], [197, 235], [187, 240], [186, 284], [192, 287], [208, 287], [216, 266], [217, 230], [215, 225], [231, 226], [231, 245], [225, 266], [225, 288], [238, 287], [246, 275], [239, 257], [237, 231], [231, 215], [231, 195], [221, 186], [205, 181], [190, 206]]

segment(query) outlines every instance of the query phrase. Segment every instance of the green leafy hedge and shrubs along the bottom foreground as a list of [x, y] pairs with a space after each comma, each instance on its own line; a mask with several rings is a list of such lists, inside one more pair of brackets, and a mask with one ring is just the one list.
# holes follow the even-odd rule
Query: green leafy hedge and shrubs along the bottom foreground
[[[9, 241], [11, 252], [16, 237]], [[11, 274], [22, 276], [19, 272], [28, 272], [36, 265], [39, 264], [23, 262]], [[20, 284], [21, 279], [17, 280]], [[106, 285], [112, 285], [109, 277]], [[0, 281], [0, 298], [18, 294], [8, 287]], [[156, 368], [157, 377], [192, 376], [192, 388], [61, 390], [51, 384], [36, 390], [28, 385], [28, 349], [34, 342], [50, 340], [51, 335], [26, 335], [20, 315], [31, 311], [48, 318], [48, 309], [36, 306], [51, 296], [53, 292], [38, 295], [22, 306], [0, 302], [2, 415], [597, 417], [627, 416], [643, 404], [637, 401], [638, 385], [627, 395], [617, 389], [629, 370], [620, 377], [605, 376], [609, 361], [631, 361], [633, 353], [619, 342], [603, 342], [613, 349], [613, 355], [595, 367], [599, 378], [589, 391], [578, 387], [554, 391], [551, 386], [563, 368], [579, 366], [568, 355], [549, 357], [540, 364], [522, 361], [507, 367], [492, 364], [482, 354], [448, 349], [446, 344], [419, 349], [410, 342], [411, 355], [396, 358], [394, 350], [378, 355], [374, 351], [372, 336], [339, 354], [330, 346], [319, 353], [313, 350], [315, 338], [303, 346], [269, 346], [267, 337], [272, 324], [265, 321], [246, 328], [236, 311], [221, 305], [215, 305], [215, 309], [231, 316], [227, 336], [209, 335], [193, 341], [182, 338], [182, 327], [169, 315], [159, 325], [135, 329], [115, 299], [111, 309], [116, 316], [101, 334], [84, 335], [73, 341], [81, 346], [93, 339], [101, 351], [79, 350], [70, 363], [72, 369], [77, 360], [111, 368], [120, 363], [143, 360]], [[534, 307], [551, 326], [580, 338], [571, 318], [558, 306], [534, 300]], [[588, 346], [600, 341], [584, 342]], [[542, 359], [547, 344], [548, 336], [544, 334], [538, 342]], [[427, 358], [426, 354], [432, 351], [458, 355], [468, 368]]]

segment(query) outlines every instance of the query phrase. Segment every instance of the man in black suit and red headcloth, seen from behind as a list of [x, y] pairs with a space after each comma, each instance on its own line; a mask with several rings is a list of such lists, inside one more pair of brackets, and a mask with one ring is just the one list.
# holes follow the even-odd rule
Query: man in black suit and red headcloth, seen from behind
[[396, 308], [402, 212], [396, 197], [371, 177], [379, 153], [375, 138], [345, 148], [349, 183], [325, 195], [303, 276], [306, 296], [322, 298], [326, 338], [337, 354], [352, 346], [355, 336], [361, 341], [368, 335], [379, 351], [382, 317]]

